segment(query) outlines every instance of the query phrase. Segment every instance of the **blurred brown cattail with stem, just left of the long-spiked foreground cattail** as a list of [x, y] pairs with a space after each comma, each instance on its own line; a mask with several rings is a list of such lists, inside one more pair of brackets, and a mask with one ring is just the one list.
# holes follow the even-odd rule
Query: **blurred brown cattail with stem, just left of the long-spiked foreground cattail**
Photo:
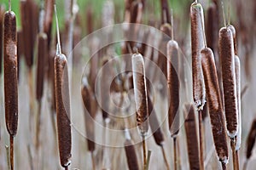
[[37, 63], [37, 85], [36, 99], [38, 101], [38, 117], [36, 124], [36, 148], [39, 147], [40, 126], [41, 126], [41, 106], [44, 93], [44, 63], [47, 57], [47, 35], [44, 32], [38, 34], [38, 63]]

